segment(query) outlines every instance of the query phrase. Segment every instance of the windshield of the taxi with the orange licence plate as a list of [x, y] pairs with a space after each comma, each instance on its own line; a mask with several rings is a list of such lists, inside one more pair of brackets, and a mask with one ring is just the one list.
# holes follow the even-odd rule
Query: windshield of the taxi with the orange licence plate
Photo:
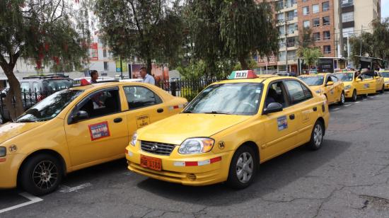
[[215, 84], [199, 93], [183, 113], [255, 115], [262, 84]]

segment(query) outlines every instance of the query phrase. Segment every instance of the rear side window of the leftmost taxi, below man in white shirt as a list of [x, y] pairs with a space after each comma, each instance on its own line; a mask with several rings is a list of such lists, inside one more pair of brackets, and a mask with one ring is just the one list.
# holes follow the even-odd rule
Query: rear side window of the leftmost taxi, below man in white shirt
[[162, 103], [161, 98], [149, 88], [143, 86], [124, 86], [123, 89], [126, 94], [129, 110]]

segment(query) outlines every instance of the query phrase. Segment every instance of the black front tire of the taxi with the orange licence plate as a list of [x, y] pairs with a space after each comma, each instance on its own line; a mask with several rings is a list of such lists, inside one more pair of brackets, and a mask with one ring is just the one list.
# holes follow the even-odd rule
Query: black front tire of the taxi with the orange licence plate
[[[251, 164], [247, 163], [247, 164], [243, 164], [242, 167], [238, 166], [238, 163], [242, 163], [242, 161], [244, 161], [245, 155], [248, 161], [249, 159], [247, 156], [248, 154], [250, 154], [252, 158]], [[244, 170], [243, 168], [247, 168], [247, 169], [251, 168], [252, 169], [251, 175], [249, 176], [248, 171]], [[230, 170], [228, 171], [227, 185], [230, 186], [231, 188], [236, 188], [236, 189], [247, 188], [252, 183], [252, 180], [254, 180], [255, 175], [257, 174], [257, 168], [258, 168], [258, 161], [254, 149], [243, 145], [242, 147], [240, 147], [238, 150], [235, 151], [235, 154], [233, 154], [233, 158], [230, 164]], [[243, 178], [239, 178], [238, 174], [240, 173]], [[246, 173], [246, 176], [244, 176], [244, 173]], [[243, 182], [243, 180], [245, 180], [245, 177], [246, 177], [246, 181]]]

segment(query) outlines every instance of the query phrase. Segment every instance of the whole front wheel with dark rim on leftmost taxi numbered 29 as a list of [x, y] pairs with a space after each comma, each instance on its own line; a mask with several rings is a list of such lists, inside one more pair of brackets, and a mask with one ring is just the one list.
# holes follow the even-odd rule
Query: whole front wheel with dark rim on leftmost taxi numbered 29
[[47, 195], [58, 188], [63, 175], [62, 164], [57, 158], [50, 154], [37, 154], [21, 168], [19, 183], [28, 193]]

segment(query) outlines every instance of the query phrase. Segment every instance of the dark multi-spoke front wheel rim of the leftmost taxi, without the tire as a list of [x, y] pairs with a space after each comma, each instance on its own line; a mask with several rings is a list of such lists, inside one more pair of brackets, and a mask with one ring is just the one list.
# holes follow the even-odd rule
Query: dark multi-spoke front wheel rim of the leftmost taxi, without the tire
[[40, 161], [33, 171], [33, 182], [42, 190], [52, 188], [57, 183], [58, 169], [52, 161]]

